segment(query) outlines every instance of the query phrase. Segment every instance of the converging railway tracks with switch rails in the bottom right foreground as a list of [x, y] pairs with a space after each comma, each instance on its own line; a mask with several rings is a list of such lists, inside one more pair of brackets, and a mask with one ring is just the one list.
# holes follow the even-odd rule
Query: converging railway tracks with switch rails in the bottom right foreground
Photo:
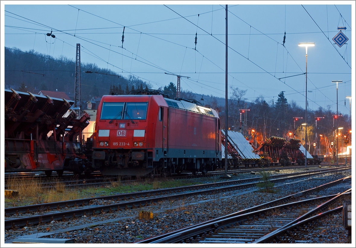
[[[303, 243], [323, 225], [320, 218], [342, 211], [338, 201], [351, 197], [351, 177], [320, 187], [326, 196], [305, 197], [313, 188], [136, 243]], [[335, 187], [342, 193], [327, 195]]]

